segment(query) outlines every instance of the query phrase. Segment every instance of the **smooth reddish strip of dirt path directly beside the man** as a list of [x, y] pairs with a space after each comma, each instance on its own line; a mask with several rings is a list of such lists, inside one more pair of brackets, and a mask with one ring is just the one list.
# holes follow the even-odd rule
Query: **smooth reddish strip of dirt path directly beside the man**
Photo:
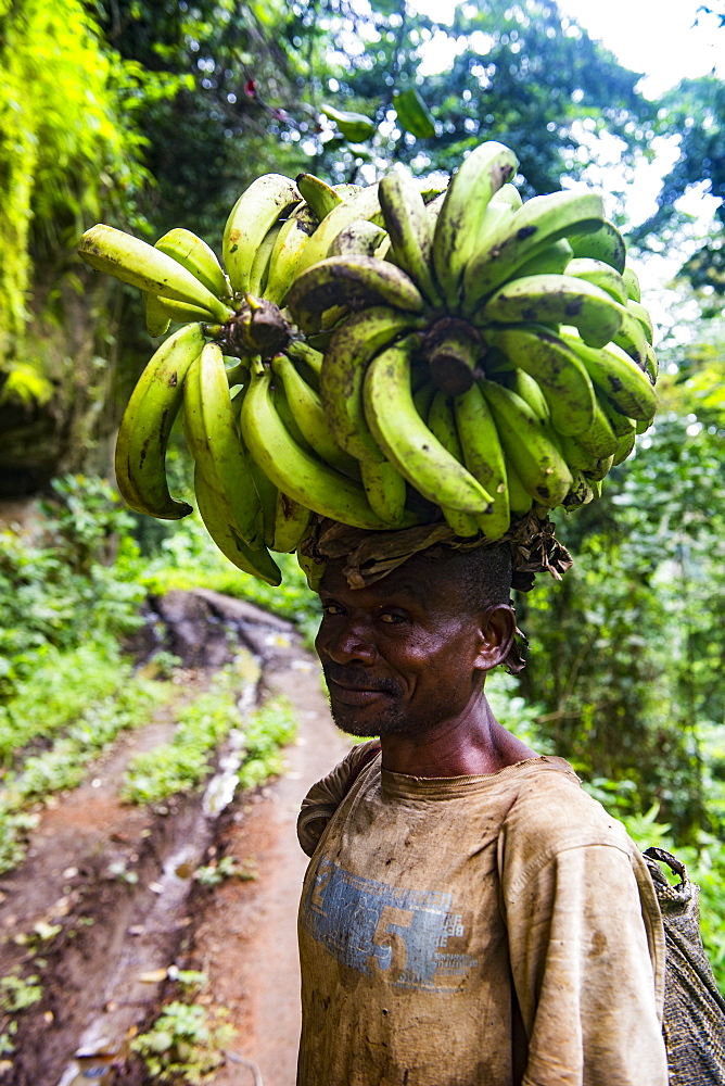
[[[254, 882], [227, 884], [214, 895], [198, 929], [193, 955], [212, 982], [214, 1000], [231, 1011], [234, 1050], [256, 1063], [264, 1086], [294, 1086], [300, 1035], [296, 914], [307, 857], [295, 822], [310, 784], [349, 749], [330, 719], [319, 669], [293, 651], [268, 672], [272, 690], [294, 704], [295, 746], [283, 776], [242, 806], [227, 833], [226, 851], [252, 861]], [[249, 1070], [229, 1062], [214, 1086], [245, 1086]]]

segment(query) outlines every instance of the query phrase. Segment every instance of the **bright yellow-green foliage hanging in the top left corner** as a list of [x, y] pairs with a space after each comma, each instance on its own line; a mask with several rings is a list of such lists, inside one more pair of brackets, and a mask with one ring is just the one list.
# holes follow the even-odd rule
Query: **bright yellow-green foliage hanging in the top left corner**
[[2, 363], [23, 356], [30, 249], [64, 263], [112, 193], [119, 209], [133, 205], [148, 174], [130, 110], [152, 84], [101, 47], [78, 0], [1, 0], [0, 22]]

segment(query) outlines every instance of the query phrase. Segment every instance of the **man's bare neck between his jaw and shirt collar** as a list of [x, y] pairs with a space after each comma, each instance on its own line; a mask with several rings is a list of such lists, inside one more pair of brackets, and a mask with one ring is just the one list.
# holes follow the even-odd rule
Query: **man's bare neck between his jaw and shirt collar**
[[498, 773], [536, 752], [507, 731], [481, 699], [462, 717], [416, 735], [383, 735], [383, 769], [409, 776], [475, 776]]

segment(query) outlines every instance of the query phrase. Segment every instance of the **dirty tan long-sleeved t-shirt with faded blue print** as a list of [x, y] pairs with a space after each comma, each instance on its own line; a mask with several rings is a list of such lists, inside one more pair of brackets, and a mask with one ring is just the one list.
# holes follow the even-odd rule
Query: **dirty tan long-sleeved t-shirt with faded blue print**
[[300, 816], [298, 1086], [666, 1086], [651, 883], [571, 767], [364, 757]]

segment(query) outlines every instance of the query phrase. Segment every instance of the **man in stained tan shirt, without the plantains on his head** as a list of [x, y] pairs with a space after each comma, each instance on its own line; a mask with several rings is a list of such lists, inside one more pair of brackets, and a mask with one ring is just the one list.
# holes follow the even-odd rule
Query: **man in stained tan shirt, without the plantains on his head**
[[298, 1086], [667, 1082], [644, 860], [486, 700], [514, 639], [510, 554], [423, 550], [356, 588], [345, 558], [325, 567], [332, 714], [380, 749], [356, 746], [300, 817]]

